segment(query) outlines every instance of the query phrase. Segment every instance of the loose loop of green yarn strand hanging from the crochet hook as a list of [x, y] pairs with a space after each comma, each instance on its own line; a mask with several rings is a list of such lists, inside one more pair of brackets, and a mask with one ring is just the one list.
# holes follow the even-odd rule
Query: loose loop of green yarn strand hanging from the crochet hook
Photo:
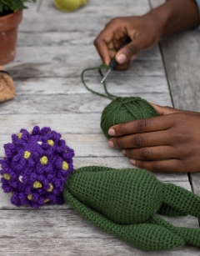
[[111, 67], [109, 67], [109, 66], [107, 66], [105, 64], [102, 64], [102, 65], [100, 65], [99, 67], [96, 67], [96, 68], [86, 68], [86, 69], [84, 69], [82, 71], [82, 75], [81, 75], [82, 83], [84, 84], [85, 88], [87, 88], [87, 90], [92, 92], [92, 93], [95, 93], [95, 94], [97, 94], [99, 96], [102, 96], [104, 98], [109, 98], [109, 99], [117, 98], [117, 96], [112, 95], [111, 93], [108, 93], [105, 81], [103, 81], [102, 84], [103, 84], [103, 88], [104, 88], [104, 91], [105, 91], [106, 94], [97, 93], [97, 92], [93, 91], [91, 88], [88, 88], [87, 84], [85, 83], [85, 79], [84, 79], [84, 73], [85, 72], [87, 72], [89, 70], [97, 70], [98, 73], [100, 74], [101, 78], [103, 78], [102, 69], [111, 69], [112, 70]]

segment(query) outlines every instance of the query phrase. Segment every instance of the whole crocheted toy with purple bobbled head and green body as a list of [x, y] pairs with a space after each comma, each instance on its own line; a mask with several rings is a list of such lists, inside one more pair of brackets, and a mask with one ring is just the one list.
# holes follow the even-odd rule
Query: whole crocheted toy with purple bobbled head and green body
[[198, 228], [175, 227], [157, 213], [200, 218], [200, 198], [143, 169], [89, 166], [73, 169], [72, 148], [50, 128], [22, 129], [4, 145], [2, 188], [11, 202], [39, 208], [70, 203], [97, 227], [137, 248], [200, 247]]

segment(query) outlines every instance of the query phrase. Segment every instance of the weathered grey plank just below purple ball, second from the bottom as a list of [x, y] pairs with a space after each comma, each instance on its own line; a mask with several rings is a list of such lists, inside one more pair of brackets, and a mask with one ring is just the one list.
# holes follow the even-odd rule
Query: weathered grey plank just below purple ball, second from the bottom
[[[67, 204], [67, 203], [66, 203]], [[50, 207], [51, 208], [51, 207]], [[161, 216], [176, 226], [198, 228], [198, 218]], [[0, 238], [108, 238], [70, 207], [66, 209], [18, 209], [0, 212]]]

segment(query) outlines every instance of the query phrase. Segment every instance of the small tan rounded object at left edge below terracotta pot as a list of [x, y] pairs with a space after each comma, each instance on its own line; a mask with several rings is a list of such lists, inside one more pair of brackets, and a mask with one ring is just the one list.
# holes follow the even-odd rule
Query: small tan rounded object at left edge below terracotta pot
[[[4, 70], [0, 66], [0, 70]], [[15, 86], [13, 78], [7, 73], [0, 72], [0, 103], [15, 97]]]

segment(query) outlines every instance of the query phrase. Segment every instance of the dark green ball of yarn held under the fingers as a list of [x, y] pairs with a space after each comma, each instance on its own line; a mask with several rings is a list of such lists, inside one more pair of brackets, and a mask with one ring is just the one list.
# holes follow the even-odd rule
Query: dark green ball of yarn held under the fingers
[[158, 112], [147, 100], [139, 97], [116, 98], [102, 111], [101, 128], [107, 138], [108, 129], [118, 123], [157, 117]]

